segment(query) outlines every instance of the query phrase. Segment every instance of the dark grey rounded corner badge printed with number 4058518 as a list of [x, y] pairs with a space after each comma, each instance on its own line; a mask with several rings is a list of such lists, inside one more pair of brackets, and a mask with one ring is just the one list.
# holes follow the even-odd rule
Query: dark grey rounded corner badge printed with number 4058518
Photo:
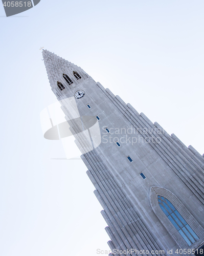
[[24, 1], [8, 1], [2, 0], [6, 16], [12, 16], [21, 12], [25, 12], [39, 4], [40, 0], [24, 0]]

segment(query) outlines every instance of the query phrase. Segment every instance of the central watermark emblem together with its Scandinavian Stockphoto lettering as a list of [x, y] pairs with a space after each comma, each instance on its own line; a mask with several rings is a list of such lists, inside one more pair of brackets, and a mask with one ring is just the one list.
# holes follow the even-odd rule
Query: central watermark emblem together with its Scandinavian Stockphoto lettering
[[100, 127], [99, 116], [79, 114], [75, 97], [65, 98], [49, 105], [41, 111], [40, 119], [44, 138], [61, 140], [66, 159], [78, 158], [100, 144], [115, 143], [119, 147], [126, 144], [132, 148], [136, 144], [159, 144], [160, 134], [164, 133], [150, 127], [136, 128], [133, 125], [120, 128], [102, 125]]

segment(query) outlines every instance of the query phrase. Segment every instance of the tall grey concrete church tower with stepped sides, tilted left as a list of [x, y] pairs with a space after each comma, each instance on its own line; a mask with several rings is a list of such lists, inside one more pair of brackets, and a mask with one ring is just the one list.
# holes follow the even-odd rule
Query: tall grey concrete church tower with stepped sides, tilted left
[[103, 207], [109, 255], [204, 255], [204, 157], [80, 67], [42, 55]]

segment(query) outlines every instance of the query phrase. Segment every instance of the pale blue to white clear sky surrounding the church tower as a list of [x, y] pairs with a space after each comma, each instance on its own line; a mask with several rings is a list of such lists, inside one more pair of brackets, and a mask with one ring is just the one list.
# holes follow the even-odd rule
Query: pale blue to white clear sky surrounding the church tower
[[85, 165], [51, 160], [63, 148], [42, 136], [39, 114], [55, 97], [40, 47], [203, 154], [203, 9], [202, 0], [41, 0], [7, 18], [0, 4], [0, 255], [108, 249]]

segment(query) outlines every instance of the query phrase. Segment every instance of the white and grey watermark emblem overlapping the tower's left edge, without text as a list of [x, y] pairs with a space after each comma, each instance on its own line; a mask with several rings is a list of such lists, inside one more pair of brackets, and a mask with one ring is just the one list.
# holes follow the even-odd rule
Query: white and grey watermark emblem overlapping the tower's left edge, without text
[[65, 98], [43, 109], [40, 121], [44, 138], [61, 140], [66, 159], [78, 159], [101, 144], [97, 118], [80, 116], [75, 97]]

